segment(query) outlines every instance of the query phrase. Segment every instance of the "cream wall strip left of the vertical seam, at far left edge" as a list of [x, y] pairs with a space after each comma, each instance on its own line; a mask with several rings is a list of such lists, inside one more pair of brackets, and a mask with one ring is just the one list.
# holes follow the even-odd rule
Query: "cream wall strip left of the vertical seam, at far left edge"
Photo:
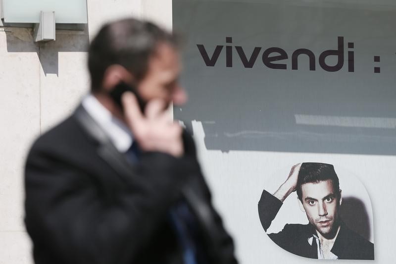
[[[0, 31], [0, 263], [22, 264], [30, 260], [22, 175], [27, 148], [40, 133], [40, 63], [31, 31], [6, 31]], [[9, 51], [7, 42], [25, 52]]]

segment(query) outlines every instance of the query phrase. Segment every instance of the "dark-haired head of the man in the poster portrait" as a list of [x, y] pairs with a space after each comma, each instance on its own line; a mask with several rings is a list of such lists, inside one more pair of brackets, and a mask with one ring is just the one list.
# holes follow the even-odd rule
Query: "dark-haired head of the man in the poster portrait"
[[309, 222], [324, 237], [334, 235], [339, 226], [342, 198], [333, 165], [302, 163], [296, 189]]

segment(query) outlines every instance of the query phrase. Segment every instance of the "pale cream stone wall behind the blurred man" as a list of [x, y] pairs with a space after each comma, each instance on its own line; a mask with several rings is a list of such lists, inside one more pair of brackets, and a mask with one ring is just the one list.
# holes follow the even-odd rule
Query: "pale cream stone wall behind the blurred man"
[[127, 16], [172, 27], [171, 0], [88, 0], [85, 31], [57, 31], [37, 44], [32, 30], [0, 27], [0, 264], [32, 263], [23, 224], [23, 167], [32, 141], [70, 114], [89, 88], [86, 48], [100, 25]]

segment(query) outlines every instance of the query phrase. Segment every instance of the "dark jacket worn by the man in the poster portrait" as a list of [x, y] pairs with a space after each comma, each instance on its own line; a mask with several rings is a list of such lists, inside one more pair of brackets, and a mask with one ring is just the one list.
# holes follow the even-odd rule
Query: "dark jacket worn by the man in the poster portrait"
[[[267, 231], [275, 218], [282, 202], [272, 194], [263, 190], [258, 202], [258, 215], [261, 225]], [[317, 245], [313, 240], [312, 246], [308, 238], [315, 233], [311, 224], [286, 224], [279, 233], [268, 234], [268, 236], [281, 248], [301, 257], [317, 259]], [[331, 252], [340, 260], [374, 260], [374, 244], [350, 230], [344, 223], [334, 242]]]

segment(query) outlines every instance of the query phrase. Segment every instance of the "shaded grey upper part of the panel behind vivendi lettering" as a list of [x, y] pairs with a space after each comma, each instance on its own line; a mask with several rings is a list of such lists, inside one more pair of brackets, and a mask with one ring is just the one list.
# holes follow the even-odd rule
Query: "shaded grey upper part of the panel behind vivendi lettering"
[[[396, 154], [395, 0], [174, 0], [176, 119], [221, 151]], [[202, 107], [205, 104], [205, 107]]]

